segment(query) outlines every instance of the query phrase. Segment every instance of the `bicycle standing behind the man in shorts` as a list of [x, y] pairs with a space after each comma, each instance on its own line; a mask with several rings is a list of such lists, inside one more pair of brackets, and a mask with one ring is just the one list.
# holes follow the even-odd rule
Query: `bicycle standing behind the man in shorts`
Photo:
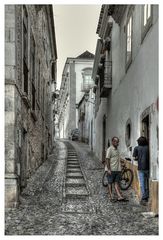
[[[128, 161], [131, 161], [130, 158], [125, 158], [125, 159]], [[121, 177], [120, 177], [120, 181], [119, 181], [119, 187], [121, 190], [127, 190], [133, 182], [134, 174], [131, 169], [127, 168], [124, 160], [121, 160], [121, 167], [122, 167], [122, 169], [121, 169]], [[108, 186], [107, 174], [108, 174], [108, 172], [105, 170], [103, 177], [102, 177], [102, 185], [104, 187]]]

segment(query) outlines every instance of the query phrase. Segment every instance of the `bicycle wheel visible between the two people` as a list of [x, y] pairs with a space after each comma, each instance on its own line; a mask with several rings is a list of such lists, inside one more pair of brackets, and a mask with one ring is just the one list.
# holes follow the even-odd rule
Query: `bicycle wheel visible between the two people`
[[127, 190], [133, 181], [133, 171], [131, 169], [125, 169], [122, 172], [121, 180], [119, 182], [119, 186], [121, 190]]

